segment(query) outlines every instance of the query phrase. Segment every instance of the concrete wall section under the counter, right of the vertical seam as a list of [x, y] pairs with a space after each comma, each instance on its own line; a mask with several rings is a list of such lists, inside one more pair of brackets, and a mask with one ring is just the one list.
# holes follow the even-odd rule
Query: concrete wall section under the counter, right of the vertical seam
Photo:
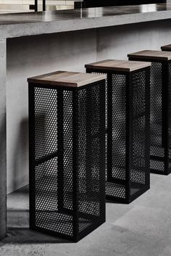
[[171, 44], [170, 20], [102, 28], [97, 32], [97, 59], [127, 59], [128, 53], [160, 50], [164, 44]]

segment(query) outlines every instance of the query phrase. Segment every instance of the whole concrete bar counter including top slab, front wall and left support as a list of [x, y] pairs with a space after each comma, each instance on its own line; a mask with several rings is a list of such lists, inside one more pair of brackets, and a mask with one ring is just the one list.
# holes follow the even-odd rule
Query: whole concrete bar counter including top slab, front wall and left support
[[6, 194], [28, 184], [27, 78], [84, 72], [86, 63], [170, 42], [171, 4], [0, 15], [0, 238]]

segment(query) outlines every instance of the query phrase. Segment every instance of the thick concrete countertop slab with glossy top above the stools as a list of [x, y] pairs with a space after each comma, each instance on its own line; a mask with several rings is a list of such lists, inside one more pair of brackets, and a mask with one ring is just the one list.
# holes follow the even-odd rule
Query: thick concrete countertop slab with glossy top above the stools
[[106, 28], [170, 19], [170, 3], [0, 15], [0, 38]]

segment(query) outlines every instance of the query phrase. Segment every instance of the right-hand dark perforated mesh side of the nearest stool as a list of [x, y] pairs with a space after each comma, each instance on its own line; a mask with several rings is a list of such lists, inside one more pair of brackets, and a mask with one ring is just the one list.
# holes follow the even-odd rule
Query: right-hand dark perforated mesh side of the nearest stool
[[78, 91], [78, 231], [105, 218], [104, 83]]

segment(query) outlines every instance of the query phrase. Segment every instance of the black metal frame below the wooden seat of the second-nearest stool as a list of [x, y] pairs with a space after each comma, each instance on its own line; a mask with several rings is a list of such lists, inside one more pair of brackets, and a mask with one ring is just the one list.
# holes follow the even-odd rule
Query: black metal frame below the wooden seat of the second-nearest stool
[[[107, 94], [107, 100], [106, 100], [106, 104], [107, 104], [107, 145], [106, 145], [106, 157], [107, 157], [107, 161], [106, 161], [106, 198], [112, 201], [116, 201], [116, 202], [122, 202], [122, 203], [130, 203], [132, 202], [134, 199], [136, 199], [137, 197], [139, 197], [141, 194], [143, 194], [145, 191], [147, 191], [150, 188], [150, 172], [149, 172], [149, 155], [150, 155], [150, 86], [149, 86], [149, 78], [150, 78], [150, 69], [149, 67], [143, 68], [141, 70], [136, 70], [133, 71], [131, 73], [127, 73], [127, 72], [119, 72], [119, 71], [113, 71], [113, 70], [99, 70], [99, 69], [93, 69], [93, 68], [86, 68], [86, 72], [87, 73], [103, 73], [103, 74], [107, 74], [107, 80], [106, 80], [106, 94]], [[143, 77], [144, 80], [141, 80], [140, 77], [135, 78], [135, 76], [137, 74], [140, 74], [141, 72], [145, 72], [145, 75]], [[124, 77], [125, 78], [125, 82], [124, 83], [124, 90], [125, 92], [123, 92], [123, 94], [125, 94], [125, 98], [121, 99], [120, 98], [120, 104], [122, 104], [122, 107], [125, 104], [125, 132], [120, 131], [120, 133], [122, 133], [122, 136], [125, 136], [125, 178], [114, 178], [113, 177], [113, 173], [112, 173], [112, 168], [114, 169], [116, 166], [114, 166], [113, 161], [116, 160], [117, 161], [117, 157], [118, 155], [113, 155], [112, 153], [112, 144], [113, 144], [113, 139], [112, 139], [112, 122], [114, 122], [113, 117], [112, 117], [112, 112], [114, 112], [114, 107], [117, 108], [117, 110], [121, 110], [120, 107], [114, 106], [113, 102], [112, 102], [112, 94], [114, 94], [113, 92], [113, 88], [117, 87], [117, 80], [112, 80], [112, 75], [116, 75], [117, 78], [120, 80], [120, 78]], [[121, 83], [121, 82], [120, 82]], [[135, 141], [135, 129], [133, 130], [133, 125], [135, 123], [135, 113], [133, 110], [133, 105], [134, 105], [134, 101], [135, 101], [135, 92], [134, 92], [134, 88], [136, 85], [140, 85], [141, 86], [142, 83], [142, 87], [144, 86], [144, 94], [143, 94], [143, 104], [145, 104], [145, 111], [141, 114], [137, 115], [138, 120], [141, 119], [141, 117], [144, 117], [145, 120], [145, 126], [143, 128], [143, 134], [142, 136], [144, 136], [144, 140], [142, 141], [143, 144], [143, 153], [141, 152], [141, 158], [142, 160], [140, 161], [144, 161], [144, 167], [142, 168], [137, 168], [137, 172], [143, 173], [142, 175], [144, 175], [144, 181], [143, 184], [141, 184], [141, 181], [133, 182], [132, 181], [132, 177], [133, 173], [131, 173], [131, 170], [133, 169], [133, 162], [135, 161], [135, 159], [133, 159], [133, 146], [135, 146], [134, 144], [137, 142]], [[144, 85], [143, 85], [144, 83]], [[122, 90], [122, 89], [120, 89]], [[119, 97], [119, 95], [114, 94], [113, 95], [116, 99], [117, 96]], [[122, 108], [121, 107], [121, 108]], [[120, 113], [118, 113], [118, 115], [120, 115]], [[117, 123], [115, 121], [115, 123]], [[117, 125], [117, 124], [116, 124]], [[125, 135], [123, 134], [125, 133]], [[120, 144], [120, 141], [118, 142]], [[122, 146], [120, 146], [118, 144], [118, 152], [120, 150], [122, 150]], [[119, 159], [119, 157], [118, 157]], [[119, 160], [120, 161], [120, 160]], [[112, 167], [113, 165], [113, 167]], [[119, 165], [119, 163], [118, 163]], [[122, 165], [122, 163], [120, 164], [120, 166]], [[122, 170], [121, 170], [122, 172]], [[109, 185], [112, 186], [111, 191], [112, 191], [112, 195], [109, 194], [109, 191], [107, 189], [107, 186]], [[137, 189], [137, 191], [135, 193], [131, 192], [131, 187], [135, 187]], [[124, 194], [123, 192], [120, 194], [120, 190], [124, 190]], [[133, 190], [133, 189], [132, 189]]]

